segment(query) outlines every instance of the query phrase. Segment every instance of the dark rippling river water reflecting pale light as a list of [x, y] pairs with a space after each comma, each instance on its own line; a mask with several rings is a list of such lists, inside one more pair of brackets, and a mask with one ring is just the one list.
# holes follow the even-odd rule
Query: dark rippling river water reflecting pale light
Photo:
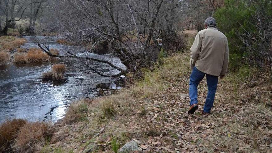
[[[21, 48], [36, 47], [33, 37], [25, 37], [28, 43]], [[45, 37], [38, 36], [41, 41]], [[89, 56], [107, 60], [125, 69], [121, 61], [111, 55], [87, 53], [79, 46], [60, 45], [57, 37], [50, 37], [49, 48], [58, 49], [60, 54], [70, 51], [78, 56]], [[51, 70], [53, 64], [66, 65], [66, 81], [46, 81], [41, 79], [44, 72]], [[118, 70], [104, 63], [90, 62], [90, 65], [104, 72], [117, 74]], [[91, 70], [87, 70], [77, 59], [62, 58], [56, 62], [42, 64], [0, 66], [0, 123], [10, 118], [24, 118], [29, 121], [56, 121], [64, 117], [70, 103], [81, 98], [96, 96], [95, 86], [98, 83], [112, 82], [114, 78], [105, 78]]]

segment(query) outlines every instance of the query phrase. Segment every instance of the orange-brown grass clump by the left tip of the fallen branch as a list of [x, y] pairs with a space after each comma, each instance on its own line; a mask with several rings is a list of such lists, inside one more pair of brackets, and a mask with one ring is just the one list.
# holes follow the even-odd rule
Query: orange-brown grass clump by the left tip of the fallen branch
[[41, 49], [38, 49], [38, 48], [30, 48], [26, 58], [28, 62], [30, 63], [49, 61], [49, 56], [46, 53], [44, 53]]

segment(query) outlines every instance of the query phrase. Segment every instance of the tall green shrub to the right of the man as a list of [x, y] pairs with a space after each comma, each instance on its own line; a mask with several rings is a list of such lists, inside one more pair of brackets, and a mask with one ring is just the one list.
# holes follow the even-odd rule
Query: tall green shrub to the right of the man
[[[232, 71], [243, 65], [271, 68], [272, 3], [269, 0], [225, 0], [225, 6], [215, 12], [218, 28], [229, 41]], [[265, 34], [265, 35], [264, 35]]]

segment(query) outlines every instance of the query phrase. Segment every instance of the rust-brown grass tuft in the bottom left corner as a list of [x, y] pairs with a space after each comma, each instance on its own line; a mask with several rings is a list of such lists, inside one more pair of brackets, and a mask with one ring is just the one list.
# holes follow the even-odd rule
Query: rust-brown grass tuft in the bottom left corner
[[27, 122], [23, 119], [7, 120], [0, 126], [0, 152], [10, 152], [16, 134]]

